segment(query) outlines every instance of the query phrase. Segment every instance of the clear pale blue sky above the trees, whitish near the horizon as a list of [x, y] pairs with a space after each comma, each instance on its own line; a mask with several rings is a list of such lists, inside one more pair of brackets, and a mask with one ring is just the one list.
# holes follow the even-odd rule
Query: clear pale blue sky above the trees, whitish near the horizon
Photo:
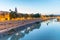
[[60, 0], [0, 0], [0, 11], [21, 13], [60, 14]]

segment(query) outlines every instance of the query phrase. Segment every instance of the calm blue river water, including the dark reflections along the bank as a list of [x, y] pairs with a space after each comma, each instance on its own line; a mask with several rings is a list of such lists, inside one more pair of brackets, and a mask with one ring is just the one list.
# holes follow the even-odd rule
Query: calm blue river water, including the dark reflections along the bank
[[60, 22], [54, 19], [29, 24], [12, 34], [0, 36], [0, 40], [60, 40]]

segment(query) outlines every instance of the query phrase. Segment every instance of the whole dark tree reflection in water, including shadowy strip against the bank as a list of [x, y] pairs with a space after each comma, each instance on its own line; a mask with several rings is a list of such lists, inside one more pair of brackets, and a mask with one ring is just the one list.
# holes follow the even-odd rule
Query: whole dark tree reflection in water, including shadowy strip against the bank
[[33, 31], [34, 29], [39, 29], [41, 26], [41, 22], [39, 23], [33, 23], [33, 24], [28, 24], [25, 25], [23, 27], [14, 29], [14, 31], [10, 31], [9, 35], [5, 35], [5, 39], [2, 38], [2, 40], [19, 40], [20, 38], [23, 38], [25, 36], [25, 34], [29, 34], [31, 31]]

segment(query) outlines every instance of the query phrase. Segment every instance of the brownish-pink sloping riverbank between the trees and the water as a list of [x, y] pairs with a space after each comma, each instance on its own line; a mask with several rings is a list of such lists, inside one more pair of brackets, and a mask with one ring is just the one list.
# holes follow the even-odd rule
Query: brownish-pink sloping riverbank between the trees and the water
[[[48, 19], [45, 19], [45, 20], [48, 20]], [[44, 20], [40, 18], [36, 18], [33, 20], [11, 20], [11, 21], [0, 22], [0, 33], [4, 33], [11, 29], [15, 29], [17, 27], [21, 27], [27, 24], [41, 22], [41, 21], [44, 21]]]

